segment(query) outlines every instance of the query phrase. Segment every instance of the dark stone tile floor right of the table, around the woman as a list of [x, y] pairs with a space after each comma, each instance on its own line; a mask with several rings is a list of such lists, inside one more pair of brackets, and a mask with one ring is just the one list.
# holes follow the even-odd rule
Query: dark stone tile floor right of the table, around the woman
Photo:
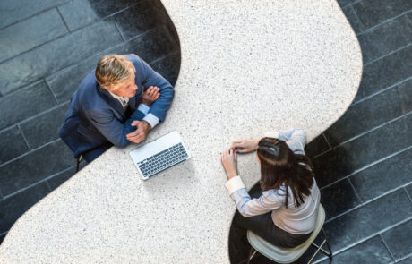
[[[314, 262], [412, 263], [412, 2], [338, 3], [362, 48], [364, 73], [348, 111], [305, 148], [335, 254]], [[231, 237], [244, 240], [229, 243], [231, 260], [246, 263], [245, 232], [233, 227]], [[275, 262], [258, 254], [251, 263]]]

